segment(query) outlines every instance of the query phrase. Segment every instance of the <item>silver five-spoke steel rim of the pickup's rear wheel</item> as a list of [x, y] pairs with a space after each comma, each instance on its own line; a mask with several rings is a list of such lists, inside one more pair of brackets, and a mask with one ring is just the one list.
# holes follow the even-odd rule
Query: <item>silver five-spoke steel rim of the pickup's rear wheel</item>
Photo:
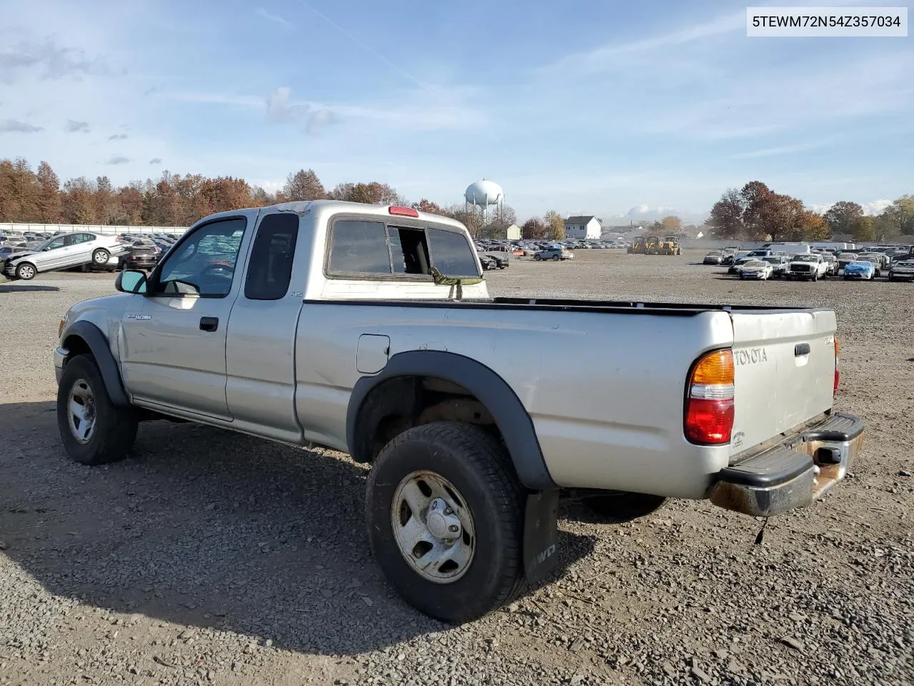
[[470, 569], [476, 552], [473, 513], [440, 474], [417, 471], [399, 482], [390, 525], [403, 559], [426, 581], [452, 584]]

